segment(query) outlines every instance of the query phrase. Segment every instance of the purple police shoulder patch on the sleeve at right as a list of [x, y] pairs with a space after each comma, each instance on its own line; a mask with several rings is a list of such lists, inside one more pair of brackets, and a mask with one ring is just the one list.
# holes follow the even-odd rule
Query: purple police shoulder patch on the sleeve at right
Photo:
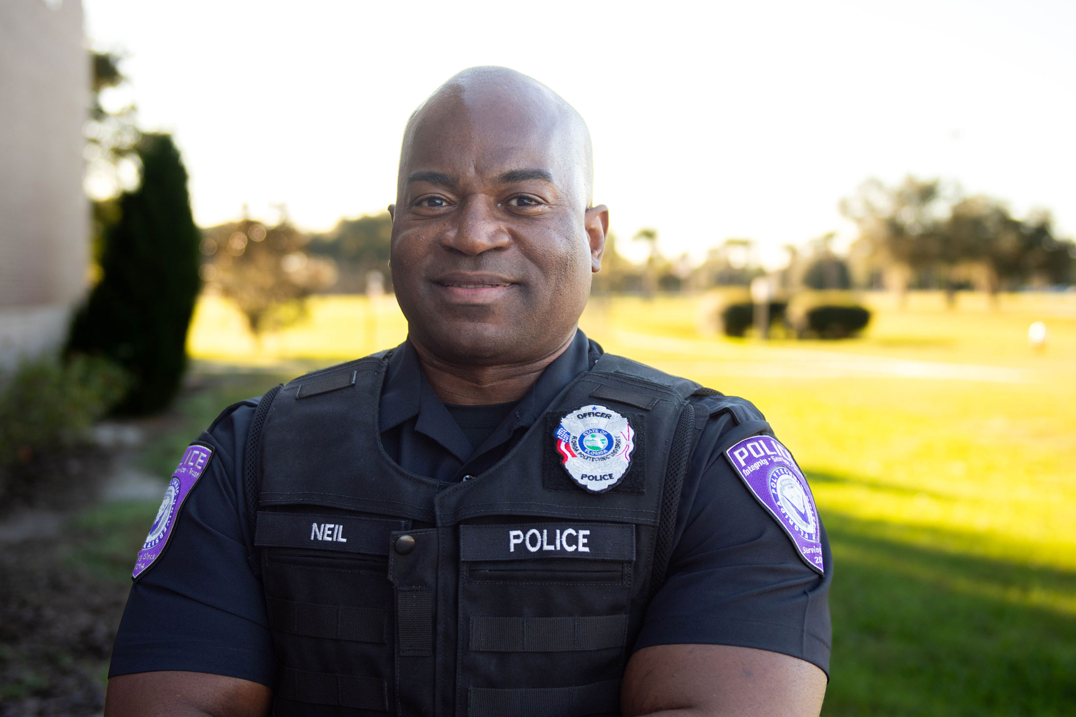
[[777, 439], [755, 435], [728, 448], [725, 456], [751, 494], [792, 539], [804, 562], [825, 574], [815, 497], [789, 449]]

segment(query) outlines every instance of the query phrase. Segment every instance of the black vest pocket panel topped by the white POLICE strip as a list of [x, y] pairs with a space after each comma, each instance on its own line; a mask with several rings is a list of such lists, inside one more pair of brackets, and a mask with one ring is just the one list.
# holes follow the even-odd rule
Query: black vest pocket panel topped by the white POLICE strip
[[635, 530], [587, 521], [459, 527], [456, 714], [618, 713]]

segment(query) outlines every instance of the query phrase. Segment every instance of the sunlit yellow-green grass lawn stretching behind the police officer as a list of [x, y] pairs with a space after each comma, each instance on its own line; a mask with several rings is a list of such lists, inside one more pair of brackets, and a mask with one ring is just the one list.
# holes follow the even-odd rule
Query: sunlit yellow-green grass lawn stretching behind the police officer
[[[1076, 297], [869, 301], [872, 326], [846, 342], [707, 336], [692, 299], [594, 301], [582, 326], [748, 398], [808, 474], [835, 563], [824, 715], [1076, 715]], [[1043, 353], [1027, 344], [1033, 320], [1050, 331]], [[283, 374], [405, 332], [391, 299], [325, 298], [259, 344], [203, 301], [190, 347], [206, 389], [146, 467], [167, 475], [221, 408]], [[139, 508], [102, 510], [133, 524]]]

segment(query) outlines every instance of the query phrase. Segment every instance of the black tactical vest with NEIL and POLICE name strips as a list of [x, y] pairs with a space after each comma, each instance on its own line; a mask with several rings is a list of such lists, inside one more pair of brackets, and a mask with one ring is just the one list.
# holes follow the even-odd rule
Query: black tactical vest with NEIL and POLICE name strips
[[[380, 354], [297, 378], [255, 413], [244, 471], [273, 714], [619, 715], [709, 415], [688, 399], [714, 391], [606, 354], [504, 459], [445, 484], [382, 448], [386, 365]], [[636, 431], [627, 473], [601, 493], [554, 448], [560, 418], [594, 403]]]

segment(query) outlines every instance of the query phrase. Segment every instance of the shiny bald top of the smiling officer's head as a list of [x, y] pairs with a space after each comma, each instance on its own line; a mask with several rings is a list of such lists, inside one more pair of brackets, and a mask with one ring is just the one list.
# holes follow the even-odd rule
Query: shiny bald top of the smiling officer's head
[[416, 145], [430, 143], [481, 145], [499, 155], [490, 157], [494, 161], [521, 145], [533, 147], [546, 155], [551, 164], [547, 169], [560, 175], [579, 210], [591, 204], [594, 166], [586, 123], [560, 95], [515, 70], [477, 67], [458, 72], [411, 114], [400, 148], [397, 202], [415, 169]]

